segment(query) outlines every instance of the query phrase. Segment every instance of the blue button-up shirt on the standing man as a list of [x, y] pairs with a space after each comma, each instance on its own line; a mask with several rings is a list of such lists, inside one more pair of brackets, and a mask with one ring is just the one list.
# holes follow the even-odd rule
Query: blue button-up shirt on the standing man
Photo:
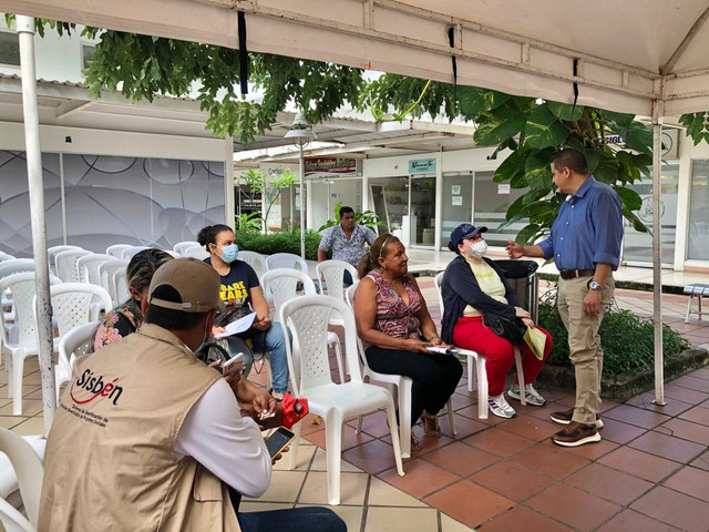
[[600, 263], [615, 270], [620, 262], [621, 239], [620, 197], [592, 175], [566, 198], [552, 234], [538, 245], [545, 258], [554, 257], [558, 269], [595, 269]]

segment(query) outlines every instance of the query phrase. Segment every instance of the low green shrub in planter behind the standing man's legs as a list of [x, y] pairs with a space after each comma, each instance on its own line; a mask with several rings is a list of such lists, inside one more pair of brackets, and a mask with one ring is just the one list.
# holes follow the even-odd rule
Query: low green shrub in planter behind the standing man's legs
[[[572, 368], [568, 359], [568, 335], [555, 301], [541, 301], [538, 323], [552, 334], [554, 348], [547, 360], [553, 366]], [[621, 374], [654, 368], [654, 326], [629, 310], [610, 309], [600, 324], [600, 345], [604, 349], [604, 378], [615, 381]], [[662, 324], [662, 349], [666, 360], [688, 349], [689, 341]]]

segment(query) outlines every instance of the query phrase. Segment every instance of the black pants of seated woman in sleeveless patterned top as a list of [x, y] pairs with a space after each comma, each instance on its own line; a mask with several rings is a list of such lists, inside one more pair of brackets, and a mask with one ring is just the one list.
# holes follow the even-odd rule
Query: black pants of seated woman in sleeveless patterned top
[[367, 348], [369, 367], [380, 374], [411, 377], [411, 424], [423, 410], [439, 413], [455, 391], [463, 367], [454, 355], [427, 355], [400, 349]]

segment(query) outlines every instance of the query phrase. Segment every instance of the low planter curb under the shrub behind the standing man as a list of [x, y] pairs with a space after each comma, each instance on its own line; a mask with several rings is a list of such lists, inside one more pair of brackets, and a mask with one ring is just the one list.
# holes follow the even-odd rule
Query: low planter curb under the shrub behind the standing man
[[[671, 357], [665, 358], [665, 382], [681, 377], [685, 374], [702, 368], [709, 364], [709, 351], [701, 347], [687, 349]], [[537, 377], [537, 382], [558, 386], [568, 390], [576, 389], [574, 368], [549, 366], [545, 364]], [[647, 371], [623, 374], [615, 379], [604, 376], [602, 396], [614, 401], [625, 402], [628, 399], [651, 390], [655, 387], [655, 372]]]

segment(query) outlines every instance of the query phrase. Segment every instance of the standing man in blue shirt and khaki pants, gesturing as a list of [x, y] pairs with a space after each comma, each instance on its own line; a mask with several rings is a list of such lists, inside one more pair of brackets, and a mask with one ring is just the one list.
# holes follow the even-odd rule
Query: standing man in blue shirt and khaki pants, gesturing
[[559, 270], [558, 314], [568, 331], [569, 358], [576, 372], [576, 406], [552, 413], [566, 428], [552, 437], [564, 447], [600, 441], [603, 349], [598, 328], [613, 300], [613, 270], [620, 262], [620, 197], [588, 174], [586, 157], [576, 150], [552, 160], [553, 183], [567, 194], [549, 237], [533, 246], [507, 241], [511, 258], [554, 257]]

